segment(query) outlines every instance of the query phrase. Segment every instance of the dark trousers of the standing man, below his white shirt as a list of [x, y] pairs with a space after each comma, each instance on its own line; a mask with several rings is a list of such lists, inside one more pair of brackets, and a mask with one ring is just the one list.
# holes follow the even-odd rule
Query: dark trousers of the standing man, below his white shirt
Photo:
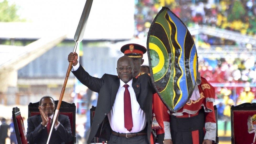
[[126, 138], [121, 136], [110, 135], [108, 144], [148, 144], [147, 135]]

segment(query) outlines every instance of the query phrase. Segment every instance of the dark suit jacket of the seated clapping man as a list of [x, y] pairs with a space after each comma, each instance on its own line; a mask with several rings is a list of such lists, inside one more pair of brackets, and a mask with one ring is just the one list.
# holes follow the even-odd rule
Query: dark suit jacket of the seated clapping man
[[[57, 130], [53, 128], [49, 143], [57, 144], [73, 140], [71, 126], [68, 116], [59, 114], [60, 125]], [[46, 127], [41, 125], [41, 115], [34, 115], [28, 118], [27, 140], [29, 143], [46, 143], [48, 133]]]

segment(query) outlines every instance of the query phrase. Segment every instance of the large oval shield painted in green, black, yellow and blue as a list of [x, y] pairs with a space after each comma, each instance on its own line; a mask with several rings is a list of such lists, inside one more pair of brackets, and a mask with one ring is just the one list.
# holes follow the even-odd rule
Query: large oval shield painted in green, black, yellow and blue
[[160, 10], [150, 26], [147, 50], [154, 88], [170, 112], [175, 113], [193, 93], [198, 60], [191, 34], [167, 7]]

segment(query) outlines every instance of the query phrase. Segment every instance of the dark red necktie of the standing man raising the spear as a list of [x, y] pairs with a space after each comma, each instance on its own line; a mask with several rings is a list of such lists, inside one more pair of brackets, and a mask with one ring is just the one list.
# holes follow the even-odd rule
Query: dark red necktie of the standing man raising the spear
[[132, 124], [132, 107], [131, 107], [131, 97], [128, 90], [129, 85], [125, 84], [125, 91], [124, 91], [124, 127], [131, 131], [133, 124]]

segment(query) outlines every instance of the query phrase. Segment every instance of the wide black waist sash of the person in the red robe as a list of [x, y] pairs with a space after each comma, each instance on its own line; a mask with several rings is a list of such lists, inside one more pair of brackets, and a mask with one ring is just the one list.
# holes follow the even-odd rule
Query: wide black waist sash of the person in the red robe
[[171, 131], [195, 131], [205, 127], [204, 108], [199, 110], [198, 115], [190, 118], [177, 118], [170, 116]]

